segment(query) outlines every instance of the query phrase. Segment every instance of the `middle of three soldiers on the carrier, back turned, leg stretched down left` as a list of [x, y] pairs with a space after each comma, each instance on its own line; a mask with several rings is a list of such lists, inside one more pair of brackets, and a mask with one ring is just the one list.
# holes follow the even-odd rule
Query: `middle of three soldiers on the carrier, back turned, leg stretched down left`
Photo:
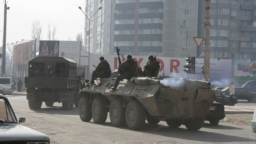
[[118, 67], [118, 72], [119, 75], [117, 75], [117, 78], [115, 79], [114, 86], [110, 88], [111, 91], [115, 91], [115, 89], [117, 89], [120, 80], [131, 79], [132, 77], [139, 76], [137, 62], [132, 59], [131, 55], [128, 55], [127, 60], [122, 62]]

